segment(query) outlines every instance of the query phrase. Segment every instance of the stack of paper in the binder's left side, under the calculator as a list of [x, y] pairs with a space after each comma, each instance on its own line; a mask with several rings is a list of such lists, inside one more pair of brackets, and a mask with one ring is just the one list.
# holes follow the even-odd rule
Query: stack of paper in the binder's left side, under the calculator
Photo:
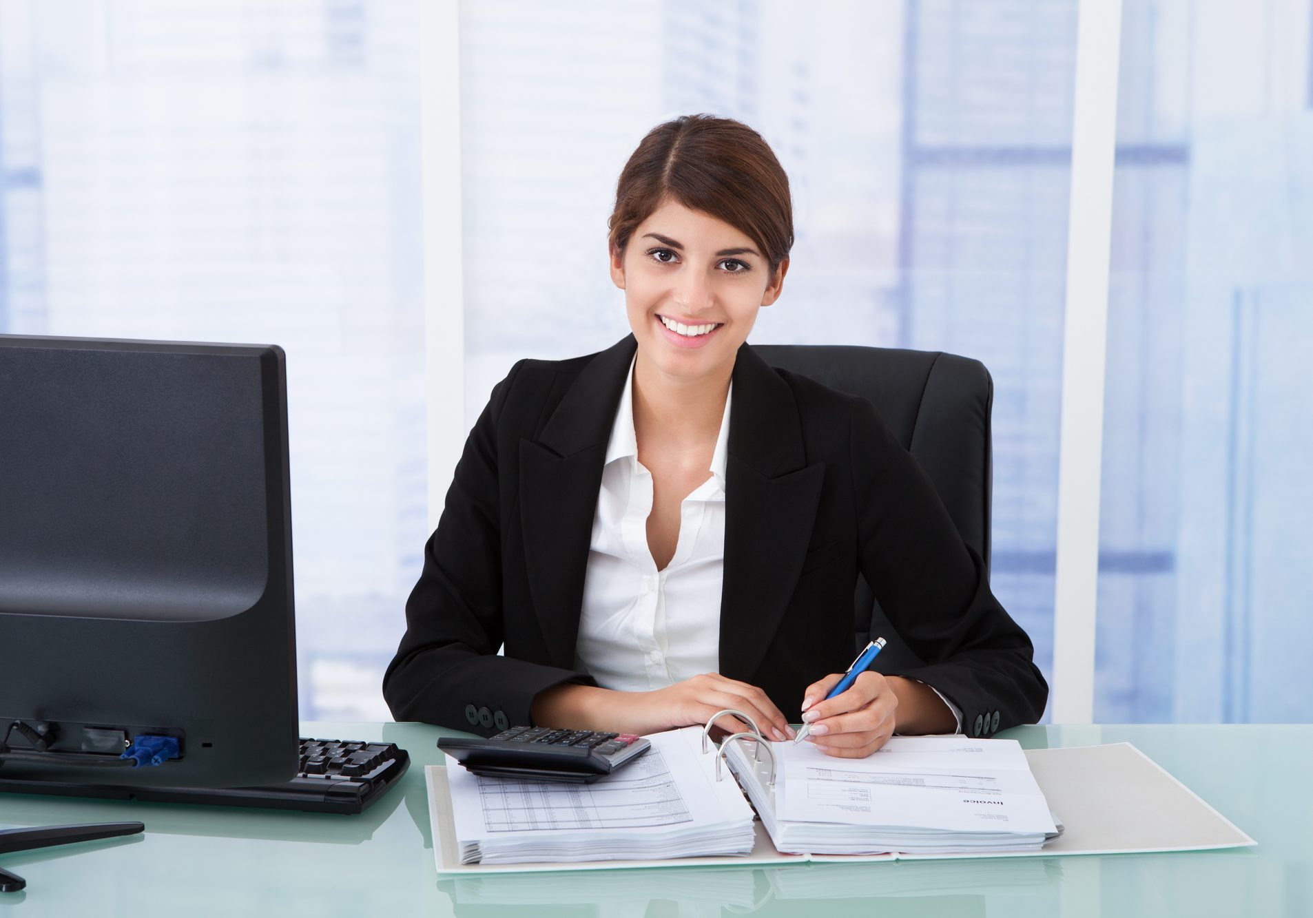
[[592, 784], [481, 777], [448, 756], [461, 863], [517, 864], [747, 855], [752, 808], [701, 732], [647, 737], [653, 747]]

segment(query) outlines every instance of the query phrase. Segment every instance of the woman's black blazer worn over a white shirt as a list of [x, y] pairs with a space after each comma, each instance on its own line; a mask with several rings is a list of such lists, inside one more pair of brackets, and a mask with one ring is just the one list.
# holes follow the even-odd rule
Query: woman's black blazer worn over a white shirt
[[[534, 696], [596, 684], [571, 668], [603, 460], [633, 335], [574, 360], [521, 360], [492, 390], [456, 468], [407, 630], [383, 676], [398, 720], [491, 735]], [[869, 402], [734, 362], [720, 672], [797, 722], [804, 689], [853, 655], [865, 574], [939, 689], [987, 733], [1033, 722], [1048, 686], [915, 460]], [[506, 655], [496, 654], [506, 642]], [[979, 735], [986, 735], [982, 730]]]

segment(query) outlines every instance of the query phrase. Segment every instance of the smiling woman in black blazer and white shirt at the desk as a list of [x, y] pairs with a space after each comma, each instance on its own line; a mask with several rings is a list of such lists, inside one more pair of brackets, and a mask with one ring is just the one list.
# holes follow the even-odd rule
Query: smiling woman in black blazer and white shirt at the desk
[[[709, 116], [659, 125], [609, 226], [633, 334], [521, 360], [494, 389], [383, 676], [393, 714], [651, 733], [738, 708], [785, 739], [802, 712], [840, 758], [1037, 720], [1031, 642], [915, 461], [868, 402], [746, 344], [793, 244], [765, 142]], [[823, 700], [853, 654], [859, 569], [930, 663]]]

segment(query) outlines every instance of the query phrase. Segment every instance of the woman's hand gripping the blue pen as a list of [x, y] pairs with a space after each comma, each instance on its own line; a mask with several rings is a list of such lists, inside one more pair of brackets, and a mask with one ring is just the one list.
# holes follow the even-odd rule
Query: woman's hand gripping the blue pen
[[898, 696], [890, 679], [868, 670], [844, 692], [826, 700], [825, 696], [843, 676], [843, 672], [831, 672], [807, 686], [802, 721], [811, 726], [806, 742], [814, 743], [826, 755], [861, 759], [893, 735]]

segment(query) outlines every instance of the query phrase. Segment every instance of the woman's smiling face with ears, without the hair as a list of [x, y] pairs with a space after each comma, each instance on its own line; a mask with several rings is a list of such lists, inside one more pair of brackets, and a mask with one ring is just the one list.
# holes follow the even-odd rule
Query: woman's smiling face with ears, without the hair
[[785, 259], [772, 280], [747, 235], [675, 201], [638, 225], [622, 257], [611, 256], [643, 360], [685, 380], [727, 378], [756, 311], [779, 298], [788, 267]]

